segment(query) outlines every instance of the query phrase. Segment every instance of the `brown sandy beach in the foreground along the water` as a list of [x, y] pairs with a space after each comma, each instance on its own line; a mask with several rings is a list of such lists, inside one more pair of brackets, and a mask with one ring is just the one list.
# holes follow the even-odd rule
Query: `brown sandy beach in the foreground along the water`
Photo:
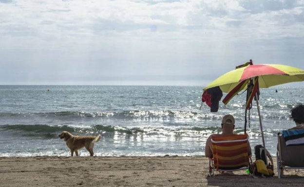
[[[276, 164], [276, 163], [275, 163]], [[245, 170], [208, 177], [209, 160], [183, 157], [0, 157], [1, 187], [285, 187], [304, 171], [253, 178]]]

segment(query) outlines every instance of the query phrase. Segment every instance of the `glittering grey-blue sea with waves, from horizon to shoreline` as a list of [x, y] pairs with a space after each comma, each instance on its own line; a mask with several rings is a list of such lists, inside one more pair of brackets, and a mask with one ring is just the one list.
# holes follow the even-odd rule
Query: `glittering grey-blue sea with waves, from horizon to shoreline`
[[[58, 135], [102, 138], [95, 156], [204, 156], [206, 139], [235, 117], [244, 133], [246, 93], [210, 112], [203, 86], [0, 85], [0, 156], [69, 156]], [[276, 92], [277, 90], [277, 92]], [[260, 89], [266, 149], [276, 154], [277, 133], [295, 126], [290, 109], [303, 103], [304, 86]], [[223, 98], [225, 97], [225, 93]], [[223, 99], [222, 98], [222, 99]], [[250, 114], [249, 114], [250, 113]], [[248, 124], [250, 123], [250, 124]], [[247, 112], [251, 149], [262, 144], [257, 103]], [[89, 156], [85, 149], [80, 156]]]

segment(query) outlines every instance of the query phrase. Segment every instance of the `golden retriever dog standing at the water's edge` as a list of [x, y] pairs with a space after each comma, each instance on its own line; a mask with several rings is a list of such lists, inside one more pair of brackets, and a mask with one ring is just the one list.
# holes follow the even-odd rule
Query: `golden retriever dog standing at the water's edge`
[[60, 139], [64, 138], [68, 148], [71, 150], [71, 156], [74, 155], [78, 156], [78, 149], [85, 147], [89, 152], [90, 156], [93, 156], [93, 147], [94, 144], [99, 141], [101, 135], [98, 136], [73, 136], [71, 133], [67, 131], [63, 131], [59, 135]]

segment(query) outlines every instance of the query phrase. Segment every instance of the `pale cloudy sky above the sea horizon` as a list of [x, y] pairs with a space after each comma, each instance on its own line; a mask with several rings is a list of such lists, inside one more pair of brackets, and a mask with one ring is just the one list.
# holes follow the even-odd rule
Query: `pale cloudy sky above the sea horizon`
[[250, 59], [304, 69], [304, 0], [0, 0], [0, 85], [205, 86]]

